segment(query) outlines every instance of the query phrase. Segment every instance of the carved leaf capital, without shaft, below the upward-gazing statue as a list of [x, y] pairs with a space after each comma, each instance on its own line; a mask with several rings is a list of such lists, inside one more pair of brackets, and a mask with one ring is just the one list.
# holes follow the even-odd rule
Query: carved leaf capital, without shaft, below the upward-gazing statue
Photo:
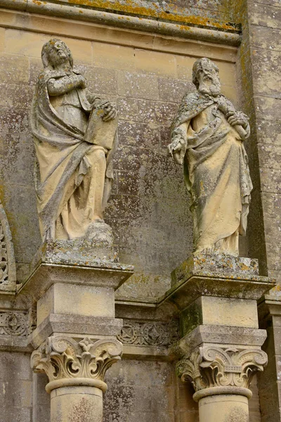
[[45, 372], [50, 392], [60, 385], [93, 385], [106, 390], [103, 379], [112, 364], [121, 359], [122, 343], [118, 340], [84, 338], [79, 343], [66, 335], [49, 337], [34, 350], [31, 366], [34, 372]]

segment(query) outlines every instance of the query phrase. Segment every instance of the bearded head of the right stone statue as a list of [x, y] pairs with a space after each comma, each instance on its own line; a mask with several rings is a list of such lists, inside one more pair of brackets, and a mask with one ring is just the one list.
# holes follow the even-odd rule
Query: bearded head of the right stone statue
[[202, 94], [218, 96], [221, 94], [221, 82], [218, 67], [209, 58], [196, 60], [192, 68], [192, 82]]

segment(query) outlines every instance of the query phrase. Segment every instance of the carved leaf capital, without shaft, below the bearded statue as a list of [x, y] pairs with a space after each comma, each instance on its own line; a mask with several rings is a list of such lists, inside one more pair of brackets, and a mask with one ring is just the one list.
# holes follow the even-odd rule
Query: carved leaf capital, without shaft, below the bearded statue
[[191, 381], [195, 391], [211, 387], [249, 388], [257, 371], [263, 371], [268, 357], [260, 349], [238, 350], [216, 346], [200, 347], [176, 366], [182, 381]]

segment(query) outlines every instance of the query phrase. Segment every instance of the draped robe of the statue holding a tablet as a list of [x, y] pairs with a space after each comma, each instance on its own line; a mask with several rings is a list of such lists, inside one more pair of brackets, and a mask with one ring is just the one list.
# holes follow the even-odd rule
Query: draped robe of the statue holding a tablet
[[37, 155], [34, 179], [44, 239], [85, 237], [91, 222], [102, 219], [113, 181], [117, 136], [110, 151], [84, 141], [98, 97], [90, 103], [86, 89], [73, 89], [62, 96], [48, 94], [48, 83], [65, 76], [65, 72], [48, 68], [41, 72], [32, 101]]

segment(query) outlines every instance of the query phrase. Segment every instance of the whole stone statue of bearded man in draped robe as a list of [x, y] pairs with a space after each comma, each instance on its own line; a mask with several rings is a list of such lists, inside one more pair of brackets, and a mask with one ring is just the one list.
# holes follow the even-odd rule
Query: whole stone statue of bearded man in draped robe
[[208, 58], [195, 61], [192, 82], [197, 93], [183, 96], [169, 151], [183, 163], [191, 194], [195, 252], [238, 255], [252, 189], [243, 146], [248, 117], [221, 94], [218, 68]]

